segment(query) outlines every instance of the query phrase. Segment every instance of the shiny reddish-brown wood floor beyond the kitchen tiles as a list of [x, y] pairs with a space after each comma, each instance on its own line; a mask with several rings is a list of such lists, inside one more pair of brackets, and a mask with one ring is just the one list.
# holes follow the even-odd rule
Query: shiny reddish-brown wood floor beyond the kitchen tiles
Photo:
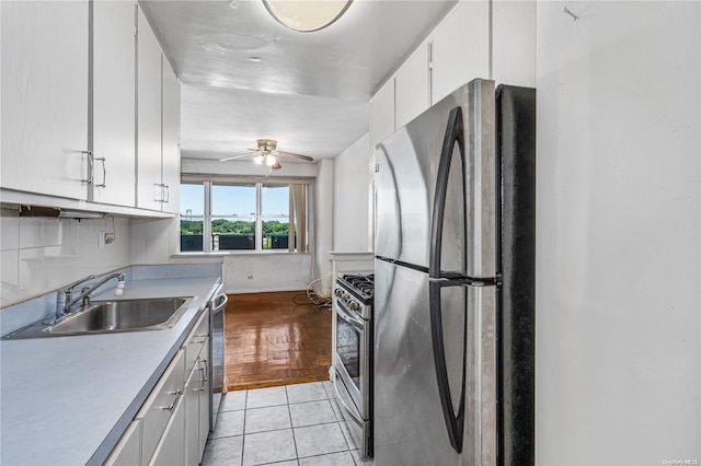
[[226, 313], [229, 391], [329, 380], [331, 308], [304, 291], [230, 294]]

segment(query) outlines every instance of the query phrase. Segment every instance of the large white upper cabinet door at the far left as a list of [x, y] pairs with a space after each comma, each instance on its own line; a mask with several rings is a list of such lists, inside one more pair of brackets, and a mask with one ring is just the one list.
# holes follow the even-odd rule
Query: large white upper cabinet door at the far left
[[88, 1], [2, 1], [3, 188], [87, 199]]

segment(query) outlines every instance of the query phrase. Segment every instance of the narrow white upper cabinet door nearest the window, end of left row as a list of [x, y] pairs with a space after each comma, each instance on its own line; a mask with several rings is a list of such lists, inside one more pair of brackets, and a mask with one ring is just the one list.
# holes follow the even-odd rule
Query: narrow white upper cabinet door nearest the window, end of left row
[[180, 210], [180, 82], [165, 56], [163, 60], [163, 206], [165, 212]]

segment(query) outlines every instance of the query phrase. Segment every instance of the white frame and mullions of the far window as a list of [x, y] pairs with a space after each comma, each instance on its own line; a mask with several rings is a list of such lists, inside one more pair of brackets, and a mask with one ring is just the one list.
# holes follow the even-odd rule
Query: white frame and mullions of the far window
[[[181, 178], [181, 185], [191, 184], [191, 185], [203, 185], [204, 186], [204, 214], [203, 214], [203, 249], [202, 251], [182, 251], [182, 237], [183, 235], [179, 233], [179, 237], [181, 238], [179, 244], [179, 253], [180, 254], [271, 254], [271, 253], [286, 253], [286, 254], [309, 254], [312, 248], [312, 240], [313, 234], [311, 233], [312, 223], [311, 223], [311, 195], [312, 195], [312, 178], [260, 178], [260, 177], [238, 177], [238, 176], [205, 176], [205, 175], [183, 175]], [[230, 186], [245, 186], [253, 185], [255, 188], [255, 248], [254, 249], [214, 249], [214, 236], [211, 231], [211, 222], [212, 218], [223, 218], [221, 215], [212, 215], [211, 206], [212, 206], [212, 185], [230, 185]], [[288, 210], [288, 224], [296, 223], [296, 219], [292, 213], [292, 185], [303, 185], [304, 186], [304, 196], [303, 196], [303, 209], [304, 209], [304, 234], [302, 235], [302, 241], [306, 243], [306, 251], [299, 251], [299, 247], [292, 242], [292, 248], [289, 247], [286, 249], [277, 248], [277, 249], [264, 249], [263, 248], [263, 222], [266, 219], [279, 219], [279, 215], [275, 214], [264, 214], [263, 206], [262, 206], [262, 197], [263, 197], [263, 188], [265, 186], [289, 186], [289, 202], [290, 209]], [[179, 228], [182, 224], [182, 208], [179, 212]], [[229, 217], [226, 217], [229, 219]], [[234, 218], [232, 215], [231, 218]], [[295, 235], [297, 235], [298, 226], [295, 225]], [[209, 238], [209, 240], [206, 240]], [[289, 240], [288, 240], [289, 244]]]

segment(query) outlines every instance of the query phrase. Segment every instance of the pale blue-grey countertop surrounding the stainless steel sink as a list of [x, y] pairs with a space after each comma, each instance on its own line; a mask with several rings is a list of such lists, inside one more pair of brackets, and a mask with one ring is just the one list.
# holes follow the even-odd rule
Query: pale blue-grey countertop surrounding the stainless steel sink
[[219, 282], [128, 281], [116, 299], [197, 296], [169, 329], [1, 341], [0, 463], [102, 464]]

